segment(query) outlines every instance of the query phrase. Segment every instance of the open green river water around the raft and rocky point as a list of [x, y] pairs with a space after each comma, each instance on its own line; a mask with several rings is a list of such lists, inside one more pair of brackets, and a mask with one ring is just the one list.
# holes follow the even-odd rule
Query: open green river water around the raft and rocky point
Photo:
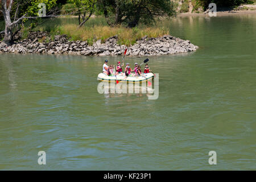
[[157, 100], [97, 92], [120, 57], [0, 55], [0, 169], [255, 170], [256, 15], [164, 24], [200, 49], [148, 57]]

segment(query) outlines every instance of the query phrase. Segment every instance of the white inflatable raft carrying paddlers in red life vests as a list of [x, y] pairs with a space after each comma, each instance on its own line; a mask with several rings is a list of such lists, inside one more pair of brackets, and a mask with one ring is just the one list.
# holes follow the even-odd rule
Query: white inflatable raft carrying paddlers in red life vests
[[142, 76], [128, 76], [117, 75], [117, 76], [108, 76], [105, 73], [98, 74], [97, 80], [100, 81], [125, 81], [125, 82], [142, 82], [150, 80], [154, 77], [153, 73], [142, 73]]

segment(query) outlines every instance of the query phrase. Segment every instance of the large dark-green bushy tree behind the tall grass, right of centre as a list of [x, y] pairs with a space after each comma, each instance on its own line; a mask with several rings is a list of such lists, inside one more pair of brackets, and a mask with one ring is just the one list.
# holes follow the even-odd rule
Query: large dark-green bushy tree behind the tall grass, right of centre
[[170, 0], [98, 0], [97, 7], [104, 11], [106, 19], [112, 18], [112, 25], [125, 23], [127, 27], [135, 27], [142, 21], [151, 23], [158, 16], [176, 15], [174, 2]]

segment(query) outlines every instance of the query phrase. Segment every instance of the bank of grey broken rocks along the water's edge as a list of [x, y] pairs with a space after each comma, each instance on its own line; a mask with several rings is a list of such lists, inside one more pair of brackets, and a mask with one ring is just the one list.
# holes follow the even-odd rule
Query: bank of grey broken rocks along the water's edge
[[[56, 35], [50, 40], [48, 32], [30, 32], [27, 39], [14, 41], [11, 46], [3, 46], [0, 42], [1, 53], [40, 53], [40, 54], [64, 54], [84, 56], [110, 56], [122, 55], [125, 45], [118, 45], [118, 37], [106, 39], [104, 43], [97, 40], [92, 46], [82, 41], [69, 41], [67, 35]], [[42, 40], [49, 40], [48, 42]], [[147, 38], [145, 36], [127, 49], [126, 55], [130, 56], [155, 56], [169, 55], [196, 51], [199, 48], [189, 40], [182, 40], [171, 35], [159, 38]]]

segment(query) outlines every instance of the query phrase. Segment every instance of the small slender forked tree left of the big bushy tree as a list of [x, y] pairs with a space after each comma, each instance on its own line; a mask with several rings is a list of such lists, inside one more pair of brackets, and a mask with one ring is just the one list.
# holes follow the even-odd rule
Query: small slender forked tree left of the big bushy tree
[[[77, 7], [79, 15], [79, 26], [81, 27], [95, 11], [96, 0], [69, 0], [69, 3], [73, 3]], [[86, 14], [88, 16], [86, 16]]]

